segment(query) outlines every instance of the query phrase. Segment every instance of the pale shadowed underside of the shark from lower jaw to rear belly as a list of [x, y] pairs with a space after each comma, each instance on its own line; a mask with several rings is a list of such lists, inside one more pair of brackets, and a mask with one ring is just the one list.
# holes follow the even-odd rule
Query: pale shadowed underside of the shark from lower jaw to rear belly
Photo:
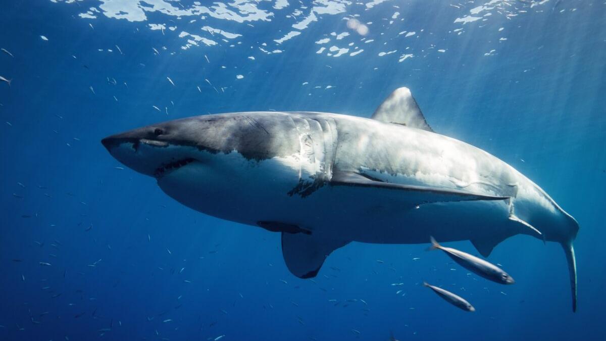
[[287, 163], [228, 155], [211, 169], [184, 166], [158, 184], [196, 211], [253, 226], [258, 221], [296, 225], [319, 238], [427, 243], [431, 235], [443, 241], [478, 238], [509, 223], [506, 201], [423, 204], [408, 191], [330, 184], [302, 196], [292, 192], [301, 174], [296, 167], [285, 171]]

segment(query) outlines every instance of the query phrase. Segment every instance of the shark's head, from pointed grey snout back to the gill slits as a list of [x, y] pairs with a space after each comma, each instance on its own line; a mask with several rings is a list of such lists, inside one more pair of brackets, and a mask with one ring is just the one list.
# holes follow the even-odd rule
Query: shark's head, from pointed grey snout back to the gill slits
[[251, 206], [247, 195], [259, 197], [278, 180], [296, 186], [300, 164], [276, 161], [298, 153], [293, 132], [292, 120], [277, 113], [222, 114], [152, 124], [101, 143], [125, 166], [156, 178], [170, 197], [227, 218], [233, 204]]

